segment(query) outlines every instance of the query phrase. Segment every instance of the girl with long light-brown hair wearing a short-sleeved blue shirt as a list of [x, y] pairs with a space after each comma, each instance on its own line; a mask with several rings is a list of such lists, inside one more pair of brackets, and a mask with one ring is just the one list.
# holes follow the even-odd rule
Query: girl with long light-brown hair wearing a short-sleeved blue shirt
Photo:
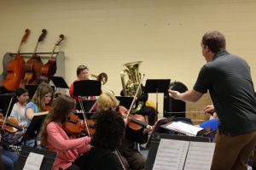
[[26, 105], [26, 121], [29, 126], [33, 116], [46, 115], [49, 111], [45, 110], [45, 105], [49, 104], [52, 100], [54, 92], [49, 84], [42, 82], [32, 97], [32, 102]]

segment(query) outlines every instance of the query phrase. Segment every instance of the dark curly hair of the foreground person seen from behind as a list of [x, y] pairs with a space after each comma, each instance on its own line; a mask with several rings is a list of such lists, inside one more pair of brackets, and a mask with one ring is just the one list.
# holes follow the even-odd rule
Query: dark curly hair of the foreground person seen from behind
[[125, 122], [112, 110], [100, 111], [96, 119], [96, 133], [91, 144], [97, 147], [116, 150], [122, 144], [125, 135]]

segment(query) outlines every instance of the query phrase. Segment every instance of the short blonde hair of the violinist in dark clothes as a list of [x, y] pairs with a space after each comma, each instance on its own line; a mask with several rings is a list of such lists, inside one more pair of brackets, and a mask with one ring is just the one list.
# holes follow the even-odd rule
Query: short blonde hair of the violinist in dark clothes
[[119, 105], [119, 100], [113, 94], [105, 93], [97, 99], [97, 105], [101, 111], [108, 111], [115, 109]]

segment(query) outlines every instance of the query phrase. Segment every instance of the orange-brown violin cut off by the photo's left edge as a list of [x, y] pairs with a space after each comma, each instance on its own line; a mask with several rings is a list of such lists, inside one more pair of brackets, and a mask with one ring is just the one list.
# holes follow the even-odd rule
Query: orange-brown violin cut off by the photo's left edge
[[20, 122], [18, 122], [15, 117], [9, 117], [5, 119], [2, 113], [0, 113], [0, 126], [3, 131], [8, 133], [16, 133], [17, 131], [22, 131], [23, 128], [19, 126]]

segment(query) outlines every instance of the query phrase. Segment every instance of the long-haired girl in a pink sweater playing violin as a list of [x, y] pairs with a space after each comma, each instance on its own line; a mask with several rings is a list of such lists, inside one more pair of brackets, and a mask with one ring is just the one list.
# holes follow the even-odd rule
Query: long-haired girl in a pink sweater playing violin
[[79, 169], [74, 161], [80, 154], [90, 150], [90, 137], [77, 138], [75, 134], [67, 135], [64, 130], [67, 117], [75, 111], [75, 105], [75, 100], [66, 94], [59, 96], [39, 133], [41, 144], [48, 150], [57, 152], [53, 170]]

